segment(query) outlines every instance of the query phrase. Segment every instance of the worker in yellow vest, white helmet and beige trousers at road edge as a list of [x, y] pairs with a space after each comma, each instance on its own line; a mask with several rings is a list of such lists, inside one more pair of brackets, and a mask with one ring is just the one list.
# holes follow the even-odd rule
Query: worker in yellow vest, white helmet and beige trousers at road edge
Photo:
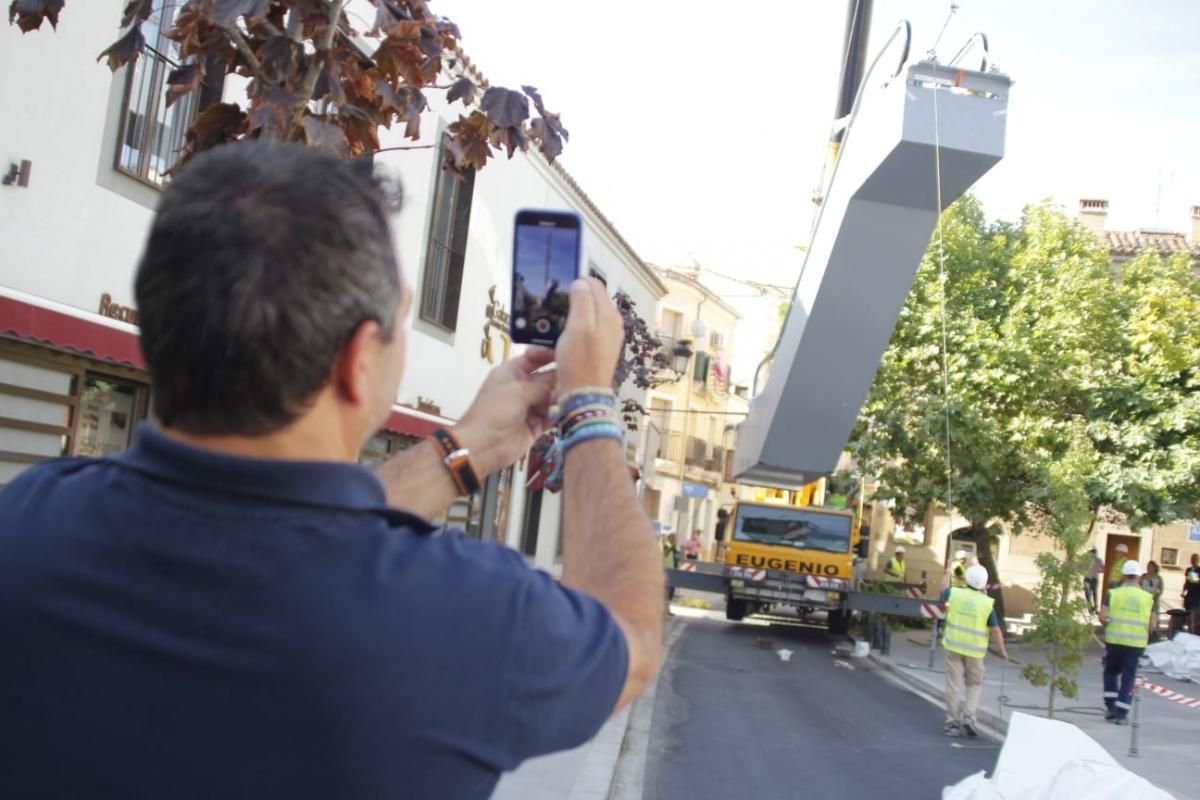
[[976, 714], [983, 692], [983, 660], [991, 634], [1000, 657], [1008, 661], [1004, 632], [996, 615], [995, 600], [984, 594], [986, 567], [967, 569], [966, 588], [949, 587], [942, 593], [946, 603], [946, 726], [947, 736], [978, 736]]

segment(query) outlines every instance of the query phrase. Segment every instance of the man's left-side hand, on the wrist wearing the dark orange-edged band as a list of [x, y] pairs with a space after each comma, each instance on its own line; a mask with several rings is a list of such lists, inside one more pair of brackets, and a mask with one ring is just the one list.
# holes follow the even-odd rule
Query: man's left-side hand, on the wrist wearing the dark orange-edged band
[[455, 426], [480, 480], [511, 465], [550, 429], [554, 373], [535, 371], [553, 360], [553, 350], [529, 348], [492, 369]]

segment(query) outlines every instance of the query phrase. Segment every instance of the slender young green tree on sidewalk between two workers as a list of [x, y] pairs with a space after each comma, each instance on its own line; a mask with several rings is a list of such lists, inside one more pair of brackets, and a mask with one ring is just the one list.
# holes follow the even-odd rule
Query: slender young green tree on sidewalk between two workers
[[1057, 694], [1079, 694], [1076, 675], [1092, 638], [1080, 587], [1091, 566], [1084, 548], [1093, 519], [1092, 500], [1084, 486], [1096, 470], [1097, 458], [1081, 419], [1073, 429], [1070, 449], [1050, 467], [1045, 509], [1037, 524], [1056, 546], [1055, 552], [1039, 553], [1036, 560], [1042, 581], [1033, 595], [1036, 627], [1026, 638], [1045, 646], [1045, 663], [1031, 662], [1021, 668], [1022, 678], [1048, 687], [1050, 717]]

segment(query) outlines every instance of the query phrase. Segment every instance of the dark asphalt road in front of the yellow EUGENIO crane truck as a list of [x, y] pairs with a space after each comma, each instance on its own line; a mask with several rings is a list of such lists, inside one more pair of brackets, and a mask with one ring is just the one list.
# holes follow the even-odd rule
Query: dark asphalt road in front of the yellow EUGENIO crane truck
[[946, 738], [941, 709], [865, 660], [835, 658], [834, 644], [689, 620], [659, 679], [644, 800], [940, 798], [992, 769], [998, 744]]

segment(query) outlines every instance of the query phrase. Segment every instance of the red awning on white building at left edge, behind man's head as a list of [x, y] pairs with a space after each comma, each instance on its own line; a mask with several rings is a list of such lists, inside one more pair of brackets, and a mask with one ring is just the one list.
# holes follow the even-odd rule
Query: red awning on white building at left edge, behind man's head
[[0, 335], [145, 369], [136, 333], [12, 297], [0, 296]]

